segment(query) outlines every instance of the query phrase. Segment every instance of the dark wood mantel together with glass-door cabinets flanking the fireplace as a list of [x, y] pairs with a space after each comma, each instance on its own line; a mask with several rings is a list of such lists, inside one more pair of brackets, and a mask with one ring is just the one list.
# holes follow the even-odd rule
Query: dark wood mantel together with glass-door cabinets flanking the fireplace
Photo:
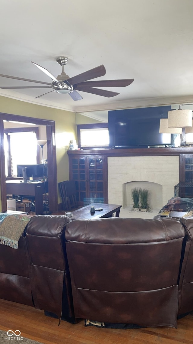
[[179, 197], [193, 198], [193, 147], [90, 149], [68, 151], [69, 175], [70, 180], [76, 183], [78, 204], [83, 206], [93, 201], [108, 203], [108, 157], [156, 155], [179, 156]]

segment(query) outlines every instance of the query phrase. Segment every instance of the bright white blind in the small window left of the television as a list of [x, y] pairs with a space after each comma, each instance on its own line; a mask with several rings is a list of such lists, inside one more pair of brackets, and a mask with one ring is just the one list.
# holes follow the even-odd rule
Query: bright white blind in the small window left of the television
[[80, 129], [81, 147], [109, 146], [108, 128]]

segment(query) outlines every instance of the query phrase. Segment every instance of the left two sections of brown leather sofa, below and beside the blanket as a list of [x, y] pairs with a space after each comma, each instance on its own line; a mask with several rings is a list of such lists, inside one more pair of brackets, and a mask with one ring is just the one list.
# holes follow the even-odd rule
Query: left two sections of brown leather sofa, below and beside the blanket
[[65, 247], [66, 216], [37, 215], [18, 249], [0, 245], [0, 298], [75, 322]]

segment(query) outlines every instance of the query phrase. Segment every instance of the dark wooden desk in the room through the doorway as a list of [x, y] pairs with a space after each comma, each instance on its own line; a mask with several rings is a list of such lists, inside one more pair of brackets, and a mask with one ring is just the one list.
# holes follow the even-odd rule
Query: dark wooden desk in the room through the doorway
[[6, 193], [14, 195], [35, 196], [35, 214], [44, 214], [43, 194], [44, 182], [24, 183], [20, 180], [6, 180]]

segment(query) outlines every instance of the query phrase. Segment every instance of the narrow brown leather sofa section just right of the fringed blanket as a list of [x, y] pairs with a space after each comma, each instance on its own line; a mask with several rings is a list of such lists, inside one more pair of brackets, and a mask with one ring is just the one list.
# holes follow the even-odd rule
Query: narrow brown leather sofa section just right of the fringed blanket
[[65, 247], [65, 228], [70, 221], [62, 215], [34, 216], [26, 228], [26, 243], [35, 308], [74, 323]]

